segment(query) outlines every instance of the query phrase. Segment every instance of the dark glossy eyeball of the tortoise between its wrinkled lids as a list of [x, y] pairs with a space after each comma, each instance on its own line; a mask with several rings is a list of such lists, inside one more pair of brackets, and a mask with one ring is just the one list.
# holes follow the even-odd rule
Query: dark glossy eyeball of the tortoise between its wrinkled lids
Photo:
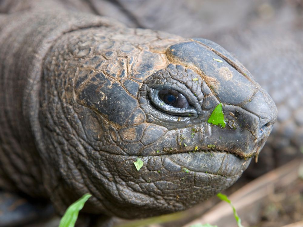
[[186, 97], [176, 90], [162, 89], [159, 91], [158, 95], [162, 101], [170, 106], [180, 109], [185, 109], [189, 106]]

